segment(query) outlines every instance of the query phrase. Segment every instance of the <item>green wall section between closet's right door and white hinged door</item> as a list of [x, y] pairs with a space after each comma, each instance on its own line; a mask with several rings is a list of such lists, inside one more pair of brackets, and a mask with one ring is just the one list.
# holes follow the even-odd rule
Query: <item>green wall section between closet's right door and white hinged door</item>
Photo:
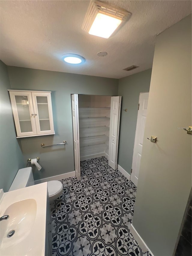
[[[140, 92], [149, 92], [151, 69], [119, 79], [122, 96], [118, 164], [131, 174]], [[123, 111], [127, 108], [128, 112]]]

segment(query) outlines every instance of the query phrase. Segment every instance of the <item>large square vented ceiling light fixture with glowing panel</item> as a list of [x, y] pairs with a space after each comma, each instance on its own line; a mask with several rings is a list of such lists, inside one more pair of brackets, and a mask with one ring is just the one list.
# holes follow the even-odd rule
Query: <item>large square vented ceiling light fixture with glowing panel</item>
[[101, 1], [91, 1], [82, 29], [91, 35], [109, 38], [131, 16], [131, 13]]

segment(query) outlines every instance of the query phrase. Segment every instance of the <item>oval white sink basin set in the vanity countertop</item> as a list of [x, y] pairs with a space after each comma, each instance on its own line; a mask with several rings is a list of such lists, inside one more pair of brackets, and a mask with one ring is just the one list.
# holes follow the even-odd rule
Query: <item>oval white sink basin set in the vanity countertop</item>
[[[9, 215], [7, 220], [0, 222], [0, 245], [1, 248], [16, 246], [29, 235], [37, 214], [35, 199], [26, 199], [11, 204], [3, 215]], [[7, 234], [14, 230], [11, 237]], [[19, 246], [19, 245], [18, 245]]]

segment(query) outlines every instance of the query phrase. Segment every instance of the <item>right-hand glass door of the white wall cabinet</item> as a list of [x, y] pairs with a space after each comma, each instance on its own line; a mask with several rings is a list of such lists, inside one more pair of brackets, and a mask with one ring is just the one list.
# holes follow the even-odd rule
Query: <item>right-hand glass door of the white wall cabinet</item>
[[38, 134], [54, 133], [50, 93], [32, 92]]

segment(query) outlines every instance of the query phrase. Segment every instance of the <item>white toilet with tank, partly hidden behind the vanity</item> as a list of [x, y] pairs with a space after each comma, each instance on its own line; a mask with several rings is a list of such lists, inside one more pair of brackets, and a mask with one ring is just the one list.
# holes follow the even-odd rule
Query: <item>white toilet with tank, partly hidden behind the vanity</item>
[[[32, 167], [26, 167], [19, 169], [13, 183], [10, 186], [9, 191], [16, 190], [19, 188], [25, 188], [35, 185]], [[49, 202], [51, 203], [55, 199], [61, 196], [63, 192], [63, 185], [58, 180], [51, 180], [47, 182], [47, 188], [49, 193]]]

